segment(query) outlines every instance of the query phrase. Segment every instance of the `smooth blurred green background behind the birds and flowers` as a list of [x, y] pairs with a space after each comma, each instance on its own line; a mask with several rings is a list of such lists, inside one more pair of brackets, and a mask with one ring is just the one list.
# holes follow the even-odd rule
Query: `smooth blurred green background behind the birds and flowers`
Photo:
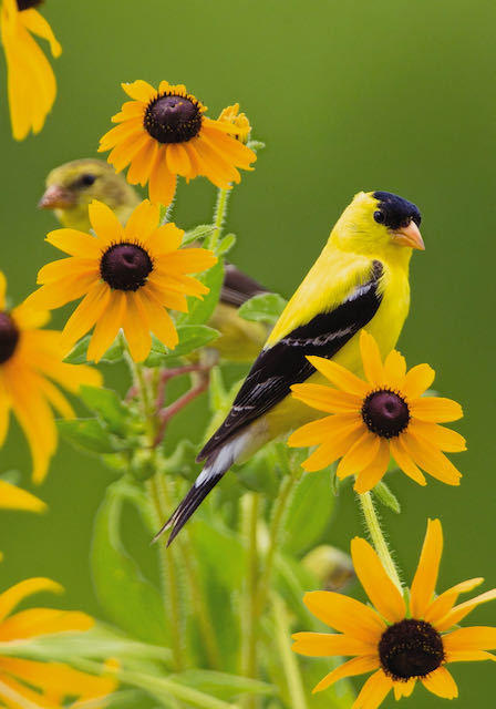
[[[447, 542], [440, 587], [478, 575], [496, 585], [495, 3], [46, 0], [43, 12], [64, 53], [55, 68], [58, 101], [40, 136], [11, 140], [2, 86], [0, 268], [11, 297], [27, 296], [37, 270], [59, 256], [43, 243], [53, 217], [35, 208], [46, 172], [95, 153], [123, 101], [121, 81], [184, 82], [213, 116], [241, 102], [267, 150], [231, 203], [229, 229], [238, 235], [231, 257], [283, 295], [300, 282], [355, 192], [388, 189], [412, 199], [423, 214], [426, 251], [413, 259], [401, 349], [410, 364], [428, 361], [437, 389], [464, 403], [459, 430], [469, 451], [455, 461], [465, 473], [459, 489], [432, 480], [421, 489], [397, 476], [392, 486], [403, 514], [384, 516], [407, 577], [426, 517], [438, 515]], [[204, 181], [180, 185], [177, 223], [208, 220], [214, 197]], [[62, 314], [54, 320], [61, 325]], [[106, 374], [107, 383], [123, 388], [122, 372]], [[182, 421], [195, 425], [190, 417]], [[29, 455], [16, 427], [0, 455], [1, 470], [20, 470], [28, 486]], [[107, 482], [97, 459], [62, 444], [38, 492], [50, 512], [0, 516], [1, 586], [51, 576], [68, 589], [63, 604], [97, 615], [87, 556]], [[347, 548], [360, 532], [347, 489], [331, 541]], [[146, 537], [138, 543], [148, 555]], [[494, 608], [484, 607], [471, 619], [494, 617]], [[492, 672], [488, 664], [455, 666], [457, 706], [489, 706]], [[423, 690], [403, 701], [418, 709], [441, 706]]]

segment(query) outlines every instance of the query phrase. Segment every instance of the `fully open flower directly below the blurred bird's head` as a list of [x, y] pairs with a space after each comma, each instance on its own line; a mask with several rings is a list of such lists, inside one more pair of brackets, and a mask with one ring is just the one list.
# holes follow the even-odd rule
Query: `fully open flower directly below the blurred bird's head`
[[210, 268], [217, 258], [203, 248], [179, 249], [184, 232], [174, 224], [159, 226], [159, 207], [147, 199], [125, 227], [101, 202], [92, 202], [89, 216], [95, 236], [75, 229], [48, 235], [70, 257], [40, 270], [38, 282], [43, 285], [28, 302], [52, 309], [84, 296], [65, 323], [62, 348], [69, 351], [94, 326], [90, 360], [100, 360], [121, 328], [135, 361], [147, 357], [151, 332], [174, 348], [178, 337], [166, 308], [187, 312], [186, 296], [207, 294], [187, 274]]

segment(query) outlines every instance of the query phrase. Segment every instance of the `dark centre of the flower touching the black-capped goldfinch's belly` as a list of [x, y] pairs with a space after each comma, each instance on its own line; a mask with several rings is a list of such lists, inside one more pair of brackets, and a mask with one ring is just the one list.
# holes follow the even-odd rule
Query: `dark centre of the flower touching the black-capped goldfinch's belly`
[[409, 425], [409, 404], [389, 389], [373, 391], [363, 402], [362, 419], [372, 433], [392, 439]]

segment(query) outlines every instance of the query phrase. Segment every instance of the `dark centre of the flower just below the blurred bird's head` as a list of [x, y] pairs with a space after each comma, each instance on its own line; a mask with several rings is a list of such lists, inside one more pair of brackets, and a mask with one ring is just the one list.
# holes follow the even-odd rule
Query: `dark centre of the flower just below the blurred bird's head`
[[137, 290], [152, 269], [152, 259], [137, 244], [114, 244], [100, 261], [100, 275], [115, 290]]

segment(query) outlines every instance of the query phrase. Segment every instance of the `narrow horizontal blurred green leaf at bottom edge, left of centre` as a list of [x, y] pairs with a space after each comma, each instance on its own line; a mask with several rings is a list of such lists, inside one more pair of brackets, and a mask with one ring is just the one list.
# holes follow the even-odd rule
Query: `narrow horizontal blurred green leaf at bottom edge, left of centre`
[[170, 675], [170, 679], [226, 700], [239, 695], [273, 695], [276, 692], [276, 688], [267, 682], [208, 669], [188, 669], [179, 675]]

